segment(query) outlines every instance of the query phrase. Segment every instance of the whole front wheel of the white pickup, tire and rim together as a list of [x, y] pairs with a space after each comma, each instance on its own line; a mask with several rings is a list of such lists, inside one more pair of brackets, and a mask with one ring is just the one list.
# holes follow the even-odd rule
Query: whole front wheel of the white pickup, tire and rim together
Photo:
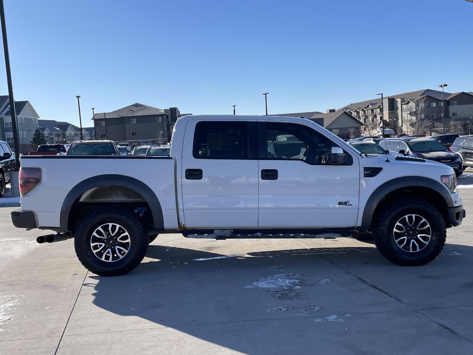
[[442, 213], [428, 202], [405, 197], [377, 213], [372, 234], [379, 252], [403, 266], [420, 266], [442, 251], [447, 229]]

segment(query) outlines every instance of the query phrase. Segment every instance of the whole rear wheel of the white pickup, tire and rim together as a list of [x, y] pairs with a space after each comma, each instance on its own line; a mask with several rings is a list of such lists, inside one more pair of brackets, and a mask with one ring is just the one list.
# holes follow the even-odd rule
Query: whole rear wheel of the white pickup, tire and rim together
[[78, 226], [74, 248], [79, 261], [101, 276], [123, 275], [143, 260], [149, 236], [131, 213], [106, 208], [88, 215]]

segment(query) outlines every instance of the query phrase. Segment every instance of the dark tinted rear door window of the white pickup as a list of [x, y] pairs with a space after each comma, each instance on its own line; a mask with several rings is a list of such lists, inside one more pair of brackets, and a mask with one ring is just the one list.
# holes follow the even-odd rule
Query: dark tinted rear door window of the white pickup
[[248, 122], [199, 122], [193, 156], [196, 159], [247, 159]]

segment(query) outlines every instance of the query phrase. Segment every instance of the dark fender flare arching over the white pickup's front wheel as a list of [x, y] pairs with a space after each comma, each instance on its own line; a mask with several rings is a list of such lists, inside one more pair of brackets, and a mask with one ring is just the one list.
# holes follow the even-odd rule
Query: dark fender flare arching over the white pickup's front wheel
[[373, 214], [375, 213], [376, 207], [383, 199], [383, 197], [385, 197], [385, 195], [398, 188], [407, 186], [428, 187], [432, 190], [437, 191], [440, 195], [443, 196], [447, 207], [454, 207], [455, 205], [452, 199], [452, 195], [447, 190], [447, 187], [439, 181], [422, 176], [396, 177], [378, 186], [377, 189], [373, 191], [373, 193], [369, 196], [368, 201], [366, 202], [365, 208], [363, 210], [361, 226], [357, 227], [357, 231], [366, 231], [371, 227], [371, 221], [373, 219]]

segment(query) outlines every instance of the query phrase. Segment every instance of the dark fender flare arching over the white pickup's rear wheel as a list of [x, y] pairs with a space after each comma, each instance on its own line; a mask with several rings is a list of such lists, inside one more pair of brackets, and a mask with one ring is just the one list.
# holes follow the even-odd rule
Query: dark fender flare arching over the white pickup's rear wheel
[[68, 221], [72, 204], [74, 204], [74, 202], [84, 192], [90, 190], [91, 188], [105, 185], [128, 187], [138, 192], [141, 196], [144, 197], [146, 202], [149, 204], [149, 207], [151, 208], [151, 213], [153, 214], [154, 229], [157, 231], [164, 230], [164, 218], [161, 204], [159, 203], [156, 194], [153, 192], [153, 190], [151, 190], [151, 188], [149, 188], [148, 185], [138, 179], [135, 179], [134, 177], [118, 174], [105, 174], [89, 177], [79, 182], [76, 186], [72, 187], [72, 189], [69, 191], [69, 193], [64, 198], [64, 201], [62, 202], [61, 216], [59, 220], [59, 226], [61, 231], [69, 231]]

